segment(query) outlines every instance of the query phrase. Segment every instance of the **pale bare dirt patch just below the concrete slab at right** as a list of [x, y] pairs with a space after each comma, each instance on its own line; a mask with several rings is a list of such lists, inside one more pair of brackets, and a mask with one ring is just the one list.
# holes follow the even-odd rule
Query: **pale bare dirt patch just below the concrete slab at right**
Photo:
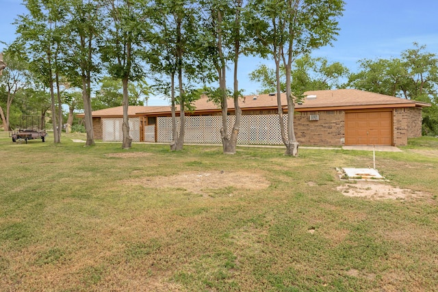
[[357, 181], [336, 188], [349, 197], [363, 197], [370, 200], [418, 200], [432, 198], [431, 194], [411, 189], [400, 189], [383, 182]]

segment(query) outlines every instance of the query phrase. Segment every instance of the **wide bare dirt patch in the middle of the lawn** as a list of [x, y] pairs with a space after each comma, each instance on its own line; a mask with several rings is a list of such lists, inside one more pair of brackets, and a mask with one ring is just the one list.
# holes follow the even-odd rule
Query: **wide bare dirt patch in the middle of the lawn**
[[261, 174], [250, 172], [186, 172], [173, 176], [155, 176], [129, 179], [130, 185], [144, 187], [177, 187], [196, 194], [206, 194], [211, 189], [266, 189], [270, 183]]

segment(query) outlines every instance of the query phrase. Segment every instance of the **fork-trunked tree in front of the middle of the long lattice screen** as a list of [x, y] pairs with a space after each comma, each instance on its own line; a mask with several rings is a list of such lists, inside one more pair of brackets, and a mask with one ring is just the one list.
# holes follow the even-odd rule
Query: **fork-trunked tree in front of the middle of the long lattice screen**
[[[204, 6], [203, 27], [205, 35], [205, 51], [209, 55], [210, 62], [216, 70], [216, 80], [219, 83], [218, 90], [209, 92], [209, 98], [220, 105], [222, 109], [222, 127], [220, 137], [224, 154], [235, 154], [237, 136], [240, 129], [242, 111], [239, 98], [242, 95], [237, 79], [239, 57], [245, 51], [248, 42], [246, 34], [245, 13], [246, 1], [229, 0], [201, 1]], [[251, 16], [252, 17], [252, 16]], [[233, 103], [235, 122], [231, 133], [228, 127], [228, 98], [227, 88], [227, 64], [233, 62]]]

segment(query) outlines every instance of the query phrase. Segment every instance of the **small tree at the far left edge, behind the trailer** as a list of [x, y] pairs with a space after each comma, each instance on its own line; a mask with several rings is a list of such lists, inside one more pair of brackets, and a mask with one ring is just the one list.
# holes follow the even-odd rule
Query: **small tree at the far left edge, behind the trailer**
[[[8, 63], [8, 67], [5, 69], [3, 77], [0, 79], [0, 86], [4, 86], [6, 92], [6, 98], [4, 103], [0, 101], [0, 116], [5, 131], [10, 130], [10, 109], [12, 101], [16, 97], [16, 94], [29, 85], [27, 64], [13, 55], [5, 55], [5, 61]], [[3, 111], [5, 105], [6, 113]]]

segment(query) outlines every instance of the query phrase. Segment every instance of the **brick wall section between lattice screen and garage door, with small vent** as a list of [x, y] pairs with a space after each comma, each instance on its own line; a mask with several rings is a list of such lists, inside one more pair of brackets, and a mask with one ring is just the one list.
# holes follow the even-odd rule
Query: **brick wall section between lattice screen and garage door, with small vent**
[[[319, 115], [319, 120], [309, 120]], [[300, 144], [314, 146], [344, 145], [344, 111], [301, 111], [294, 114], [296, 140]]]

